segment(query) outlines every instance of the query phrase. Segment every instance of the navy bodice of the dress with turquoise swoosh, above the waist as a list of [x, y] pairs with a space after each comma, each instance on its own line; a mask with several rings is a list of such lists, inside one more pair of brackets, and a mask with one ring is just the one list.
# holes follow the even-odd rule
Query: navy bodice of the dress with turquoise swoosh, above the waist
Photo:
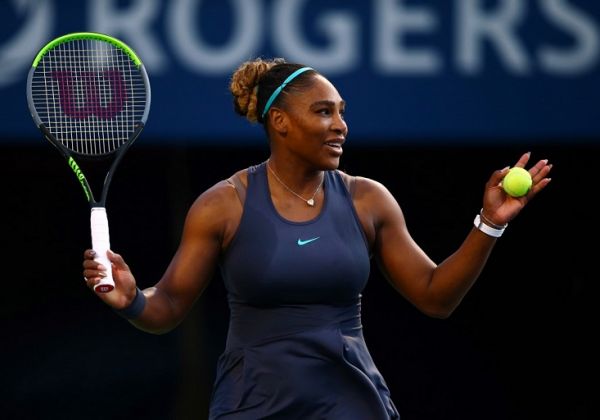
[[221, 265], [230, 298], [253, 305], [356, 301], [369, 278], [369, 254], [340, 175], [325, 173], [316, 218], [292, 222], [275, 209], [265, 169], [248, 171], [242, 220]]

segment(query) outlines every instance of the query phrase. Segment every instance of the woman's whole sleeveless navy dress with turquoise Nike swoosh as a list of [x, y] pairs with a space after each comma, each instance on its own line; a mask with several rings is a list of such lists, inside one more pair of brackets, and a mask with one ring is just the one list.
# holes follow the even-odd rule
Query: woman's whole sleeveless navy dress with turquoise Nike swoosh
[[362, 335], [366, 238], [337, 171], [320, 214], [283, 218], [266, 163], [248, 169], [242, 218], [220, 262], [230, 323], [210, 419], [399, 418]]

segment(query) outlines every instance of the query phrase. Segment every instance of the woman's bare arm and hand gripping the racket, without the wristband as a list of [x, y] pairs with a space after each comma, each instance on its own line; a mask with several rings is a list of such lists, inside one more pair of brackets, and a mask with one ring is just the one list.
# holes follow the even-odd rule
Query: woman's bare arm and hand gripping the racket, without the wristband
[[[209, 284], [223, 249], [224, 238], [239, 222], [240, 202], [235, 190], [225, 182], [204, 192], [188, 211], [181, 242], [162, 278], [143, 290], [146, 305], [130, 322], [137, 328], [161, 334], [176, 327]], [[237, 217], [237, 219], [236, 219]], [[104, 267], [92, 259], [91, 250], [84, 253], [84, 276], [88, 286], [99, 280]], [[115, 289], [98, 294], [108, 305], [122, 309], [131, 304], [136, 293], [135, 278], [118, 254], [109, 254]]]

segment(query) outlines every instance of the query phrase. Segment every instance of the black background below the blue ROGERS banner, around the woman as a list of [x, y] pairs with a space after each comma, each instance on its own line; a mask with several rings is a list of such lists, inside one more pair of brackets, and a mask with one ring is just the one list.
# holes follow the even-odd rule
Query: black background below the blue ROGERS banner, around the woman
[[[112, 248], [144, 288], [169, 263], [197, 195], [268, 149], [159, 148], [142, 139], [115, 175], [107, 210]], [[471, 229], [493, 170], [527, 150], [554, 164], [548, 188], [510, 223], [449, 319], [417, 312], [373, 267], [363, 295], [372, 356], [405, 420], [596, 418], [599, 148], [589, 139], [481, 144], [346, 143], [341, 169], [385, 184], [437, 262]], [[0, 154], [3, 417], [205, 418], [228, 321], [221, 279], [168, 334], [119, 318], [82, 280], [89, 211], [61, 159], [42, 143]]]

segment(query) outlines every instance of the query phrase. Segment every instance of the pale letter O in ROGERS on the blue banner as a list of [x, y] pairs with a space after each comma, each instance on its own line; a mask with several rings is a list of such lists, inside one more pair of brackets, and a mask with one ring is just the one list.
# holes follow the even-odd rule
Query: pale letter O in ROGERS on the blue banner
[[224, 46], [213, 47], [197, 35], [197, 11], [202, 0], [173, 0], [167, 12], [167, 36], [177, 58], [198, 73], [229, 73], [260, 48], [264, 11], [258, 0], [233, 3], [231, 37]]

